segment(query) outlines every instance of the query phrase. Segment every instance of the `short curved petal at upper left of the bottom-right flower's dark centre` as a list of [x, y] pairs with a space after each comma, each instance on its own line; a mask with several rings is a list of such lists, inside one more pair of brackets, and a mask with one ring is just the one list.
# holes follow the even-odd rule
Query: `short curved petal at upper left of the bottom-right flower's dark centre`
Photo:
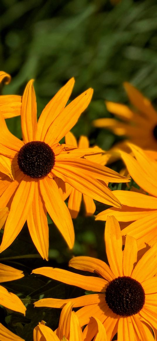
[[69, 266], [75, 269], [97, 273], [98, 276], [105, 278], [108, 282], [115, 278], [110, 267], [105, 262], [93, 257], [73, 257], [69, 261]]

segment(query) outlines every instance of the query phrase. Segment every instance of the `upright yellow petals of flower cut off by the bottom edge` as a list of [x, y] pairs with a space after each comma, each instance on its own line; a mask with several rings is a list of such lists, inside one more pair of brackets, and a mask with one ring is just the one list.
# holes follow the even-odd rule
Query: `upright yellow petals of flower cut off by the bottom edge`
[[[39, 323], [33, 330], [33, 341], [84, 341], [82, 329], [77, 315], [72, 311], [73, 303], [67, 303], [61, 311], [59, 327], [54, 332]], [[95, 326], [94, 341], [106, 341], [106, 332], [103, 324], [97, 318], [91, 318], [90, 323]]]

